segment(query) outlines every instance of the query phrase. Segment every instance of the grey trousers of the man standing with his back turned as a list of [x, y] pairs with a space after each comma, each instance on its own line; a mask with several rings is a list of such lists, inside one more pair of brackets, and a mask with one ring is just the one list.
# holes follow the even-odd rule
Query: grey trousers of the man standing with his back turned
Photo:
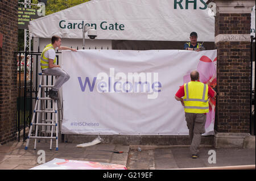
[[191, 154], [199, 153], [199, 145], [201, 142], [201, 134], [205, 133], [205, 121], [207, 115], [204, 113], [188, 113], [185, 112], [185, 119], [189, 129], [189, 138], [191, 140]]

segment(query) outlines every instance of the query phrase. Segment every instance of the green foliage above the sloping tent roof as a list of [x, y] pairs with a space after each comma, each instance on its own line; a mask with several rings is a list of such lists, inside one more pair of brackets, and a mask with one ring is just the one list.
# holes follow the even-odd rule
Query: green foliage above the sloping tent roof
[[90, 0], [48, 0], [46, 5], [46, 15], [80, 5], [87, 1]]

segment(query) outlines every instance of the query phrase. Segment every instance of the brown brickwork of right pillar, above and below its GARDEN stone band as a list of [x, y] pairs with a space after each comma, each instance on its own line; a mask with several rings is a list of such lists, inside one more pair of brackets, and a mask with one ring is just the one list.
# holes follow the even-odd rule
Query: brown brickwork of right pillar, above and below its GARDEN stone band
[[[217, 14], [218, 34], [250, 34], [250, 14]], [[217, 132], [250, 132], [250, 41], [219, 41]]]

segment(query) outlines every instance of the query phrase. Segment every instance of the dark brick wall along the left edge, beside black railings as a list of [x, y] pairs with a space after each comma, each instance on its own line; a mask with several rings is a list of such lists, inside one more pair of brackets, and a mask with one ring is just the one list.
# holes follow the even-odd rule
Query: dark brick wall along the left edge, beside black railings
[[15, 139], [16, 134], [16, 60], [18, 50], [18, 0], [0, 1], [0, 144]]

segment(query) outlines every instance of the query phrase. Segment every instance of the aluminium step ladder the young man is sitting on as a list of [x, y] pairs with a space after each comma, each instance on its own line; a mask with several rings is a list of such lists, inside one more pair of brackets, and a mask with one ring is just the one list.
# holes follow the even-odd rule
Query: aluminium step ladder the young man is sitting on
[[[59, 133], [59, 113], [61, 110], [60, 104], [59, 104], [59, 99], [58, 100], [53, 100], [45, 95], [45, 90], [48, 88], [52, 88], [53, 85], [42, 85], [43, 77], [47, 76], [44, 73], [39, 73], [40, 75], [40, 81], [39, 81], [39, 90], [38, 90], [38, 96], [36, 97], [36, 103], [35, 103], [35, 109], [33, 111], [33, 116], [30, 124], [30, 131], [28, 132], [28, 137], [27, 137], [27, 143], [25, 146], [25, 150], [28, 148], [28, 144], [30, 142], [30, 139], [35, 139], [35, 145], [34, 145], [34, 150], [36, 150], [36, 141], [38, 139], [38, 142], [40, 142], [40, 139], [48, 139], [51, 140], [50, 142], [50, 150], [52, 150], [52, 140], [56, 140], [56, 151], [59, 150], [58, 148], [58, 133]], [[52, 102], [52, 108], [46, 108], [46, 102], [51, 101]], [[47, 114], [51, 113], [51, 118], [52, 119], [46, 119]], [[42, 128], [45, 128], [44, 130]], [[50, 130], [47, 128], [50, 127]], [[32, 135], [32, 131], [34, 128], [34, 135]], [[51, 133], [50, 136], [49, 133]], [[43, 134], [43, 136], [42, 136]], [[53, 136], [55, 134], [55, 136]]]

